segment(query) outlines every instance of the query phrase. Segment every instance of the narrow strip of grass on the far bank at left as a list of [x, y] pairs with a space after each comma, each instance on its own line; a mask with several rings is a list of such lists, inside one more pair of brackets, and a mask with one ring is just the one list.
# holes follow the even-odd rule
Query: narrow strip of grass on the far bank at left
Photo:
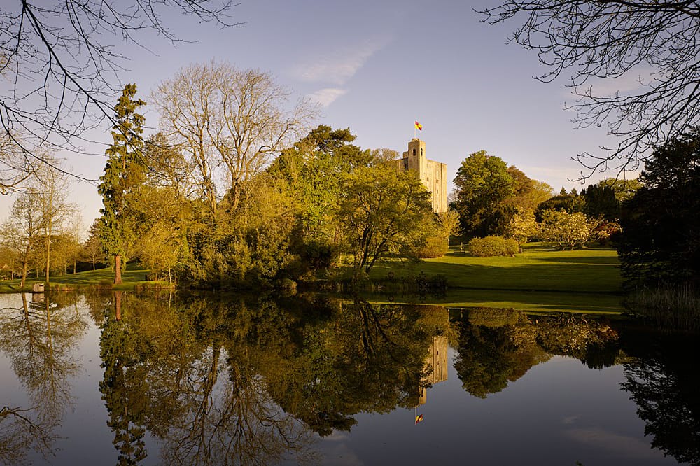
[[[115, 290], [129, 290], [137, 285], [167, 286], [167, 282], [146, 281], [148, 269], [143, 269], [137, 264], [127, 266], [127, 270], [122, 271], [121, 285], [113, 287]], [[51, 285], [60, 285], [61, 288], [90, 288], [97, 286], [108, 287], [114, 281], [114, 272], [111, 268], [78, 272], [77, 274], [57, 275], [51, 277]], [[42, 278], [27, 277], [27, 284], [24, 291], [31, 291], [34, 283], [44, 283]], [[20, 280], [0, 281], [0, 292], [13, 293], [20, 292]]]

